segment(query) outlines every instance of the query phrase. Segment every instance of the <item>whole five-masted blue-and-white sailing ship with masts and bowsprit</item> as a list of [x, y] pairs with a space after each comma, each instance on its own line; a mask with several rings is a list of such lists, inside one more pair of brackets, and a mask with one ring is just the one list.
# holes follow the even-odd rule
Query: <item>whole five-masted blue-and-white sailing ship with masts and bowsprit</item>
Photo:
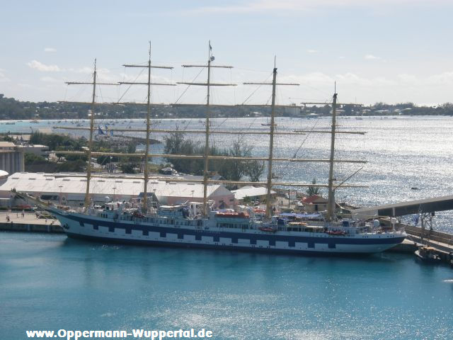
[[[94, 64], [92, 83], [70, 83], [70, 84], [92, 84], [93, 100], [91, 102], [90, 128], [88, 148], [85, 152], [66, 152], [71, 154], [86, 154], [88, 157], [86, 174], [86, 196], [84, 208], [69, 208], [61, 205], [45, 203], [39, 198], [27, 196], [39, 205], [45, 205], [45, 209], [52, 212], [59, 220], [64, 232], [68, 237], [77, 239], [90, 239], [98, 242], [117, 242], [124, 244], [144, 244], [150, 246], [179, 246], [193, 248], [229, 249], [237, 251], [261, 251], [289, 254], [372, 254], [385, 251], [403, 242], [406, 232], [403, 229], [396, 230], [394, 227], [382, 227], [378, 220], [355, 220], [352, 218], [341, 218], [335, 213], [335, 191], [337, 188], [346, 187], [343, 183], [334, 183], [333, 165], [335, 162], [348, 162], [336, 160], [335, 135], [336, 135], [336, 106], [337, 94], [333, 95], [332, 102], [332, 124], [331, 124], [331, 151], [330, 158], [321, 160], [329, 164], [328, 183], [326, 185], [314, 185], [306, 183], [285, 183], [273, 181], [273, 157], [274, 135], [275, 135], [275, 89], [278, 84], [277, 68], [273, 69], [272, 83], [244, 83], [244, 84], [268, 84], [272, 86], [272, 104], [270, 105], [269, 131], [260, 132], [269, 135], [269, 154], [266, 158], [248, 157], [248, 159], [259, 159], [268, 163], [267, 181], [258, 182], [267, 188], [266, 209], [259, 213], [252, 208], [245, 208], [242, 211], [214, 209], [207, 199], [207, 186], [213, 183], [221, 184], [257, 184], [246, 181], [222, 181], [213, 180], [208, 177], [208, 164], [210, 159], [218, 156], [210, 155], [210, 87], [225, 86], [229, 84], [214, 84], [211, 82], [211, 71], [213, 67], [226, 67], [213, 65], [214, 57], [212, 48], [209, 46], [207, 64], [204, 65], [183, 65], [183, 67], [204, 67], [207, 69], [206, 83], [181, 83], [193, 84], [207, 87], [207, 103], [205, 130], [197, 131], [205, 134], [205, 152], [202, 156], [191, 156], [203, 159], [204, 171], [202, 180], [181, 180], [202, 183], [204, 188], [203, 202], [187, 202], [180, 205], [159, 205], [149, 193], [148, 182], [152, 179], [149, 176], [149, 157], [173, 157], [183, 158], [186, 155], [165, 155], [150, 154], [150, 94], [151, 68], [171, 68], [151, 65], [151, 48], [149, 61], [146, 65], [125, 65], [125, 67], [144, 67], [148, 71], [147, 83], [122, 83], [122, 84], [145, 84], [148, 89], [147, 96], [147, 120], [146, 145], [142, 154], [127, 154], [129, 157], [142, 157], [143, 176], [140, 178], [144, 183], [140, 199], [132, 202], [110, 201], [102, 206], [94, 205], [91, 200], [90, 181], [93, 177], [91, 169], [91, 157], [101, 155], [92, 152], [94, 116], [96, 108], [96, 61]], [[120, 83], [121, 84], [121, 83]], [[167, 131], [168, 132], [168, 131]], [[255, 131], [256, 132], [256, 131]], [[326, 132], [326, 131], [322, 131]], [[247, 132], [244, 132], [247, 133]], [[281, 132], [280, 132], [281, 133]], [[297, 133], [303, 133], [299, 131]], [[292, 135], [297, 134], [296, 132]], [[342, 132], [347, 133], [347, 132]], [[357, 132], [350, 132], [357, 133]], [[109, 153], [103, 153], [109, 155]], [[113, 155], [113, 154], [110, 154]], [[117, 154], [116, 154], [117, 155]], [[239, 159], [239, 157], [225, 156], [222, 159]], [[298, 162], [298, 159], [277, 159], [279, 161]], [[320, 162], [320, 160], [301, 159], [301, 162]], [[350, 161], [355, 162], [355, 161]], [[95, 175], [98, 176], [98, 175]], [[173, 181], [173, 180], [172, 180]], [[344, 181], [343, 181], [344, 182]], [[318, 186], [328, 188], [327, 212], [319, 220], [306, 220], [301, 216], [282, 216], [273, 213], [271, 189], [275, 186]]]

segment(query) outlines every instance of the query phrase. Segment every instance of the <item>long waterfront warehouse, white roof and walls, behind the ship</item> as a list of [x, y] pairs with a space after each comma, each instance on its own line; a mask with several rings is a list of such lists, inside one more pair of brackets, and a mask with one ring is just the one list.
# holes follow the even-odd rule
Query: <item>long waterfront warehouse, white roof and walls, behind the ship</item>
[[[173, 179], [176, 180], [176, 179]], [[129, 201], [142, 197], [143, 180], [134, 176], [121, 178], [91, 179], [92, 200], [103, 204], [106, 200]], [[150, 179], [148, 197], [160, 205], [175, 205], [203, 201], [203, 186], [200, 183], [187, 183]], [[82, 174], [45, 174], [18, 172], [8, 177], [0, 186], [0, 198], [13, 198], [11, 191], [21, 191], [52, 203], [62, 203], [73, 207], [84, 205], [86, 177]], [[208, 198], [215, 208], [231, 208], [234, 205], [234, 194], [221, 185], [207, 186]]]

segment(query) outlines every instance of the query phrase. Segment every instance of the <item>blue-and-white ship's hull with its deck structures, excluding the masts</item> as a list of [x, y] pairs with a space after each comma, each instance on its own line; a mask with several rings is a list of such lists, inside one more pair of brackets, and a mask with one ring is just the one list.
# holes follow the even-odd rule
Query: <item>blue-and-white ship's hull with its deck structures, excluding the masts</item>
[[306, 222], [297, 227], [277, 216], [270, 222], [246, 214], [198, 208], [161, 207], [144, 215], [128, 203], [86, 212], [50, 205], [69, 237], [161, 246], [268, 251], [292, 254], [370, 254], [390, 249], [406, 237], [403, 230], [378, 232], [371, 222]]

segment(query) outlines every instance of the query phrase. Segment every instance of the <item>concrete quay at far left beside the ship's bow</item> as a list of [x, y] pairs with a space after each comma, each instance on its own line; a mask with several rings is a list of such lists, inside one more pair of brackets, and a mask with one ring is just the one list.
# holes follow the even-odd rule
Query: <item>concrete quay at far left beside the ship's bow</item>
[[[9, 221], [7, 219], [9, 217]], [[38, 218], [35, 212], [1, 211], [0, 230], [9, 232], [64, 232], [58, 220]]]

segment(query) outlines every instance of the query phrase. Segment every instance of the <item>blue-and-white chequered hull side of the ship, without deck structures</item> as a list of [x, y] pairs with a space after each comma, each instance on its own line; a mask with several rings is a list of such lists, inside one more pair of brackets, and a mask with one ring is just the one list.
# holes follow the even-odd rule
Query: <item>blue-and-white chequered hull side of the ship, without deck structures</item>
[[217, 228], [114, 221], [78, 213], [53, 212], [68, 237], [120, 244], [282, 254], [373, 254], [396, 246], [406, 237], [404, 232], [336, 236], [319, 232], [274, 234], [256, 229], [226, 231]]

